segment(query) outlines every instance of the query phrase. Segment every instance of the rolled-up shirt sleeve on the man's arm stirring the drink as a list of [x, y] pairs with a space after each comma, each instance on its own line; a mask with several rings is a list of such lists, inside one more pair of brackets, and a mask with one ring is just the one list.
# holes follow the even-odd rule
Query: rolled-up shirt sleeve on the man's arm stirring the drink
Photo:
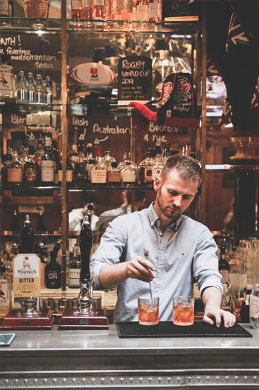
[[126, 248], [126, 215], [111, 222], [102, 236], [101, 243], [90, 262], [90, 277], [93, 289], [104, 290], [99, 283], [103, 266], [117, 264]]

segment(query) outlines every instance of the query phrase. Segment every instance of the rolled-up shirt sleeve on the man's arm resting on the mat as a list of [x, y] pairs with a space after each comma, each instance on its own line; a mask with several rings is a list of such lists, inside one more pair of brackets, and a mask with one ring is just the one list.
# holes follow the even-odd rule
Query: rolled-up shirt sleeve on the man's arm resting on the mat
[[218, 246], [213, 235], [206, 226], [198, 239], [198, 245], [193, 257], [193, 276], [198, 282], [200, 295], [207, 287], [216, 287], [223, 293], [222, 275], [218, 271]]

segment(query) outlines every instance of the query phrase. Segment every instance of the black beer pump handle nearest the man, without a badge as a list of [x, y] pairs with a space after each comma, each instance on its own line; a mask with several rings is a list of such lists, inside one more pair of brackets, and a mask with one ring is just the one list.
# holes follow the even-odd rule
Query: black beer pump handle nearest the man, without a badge
[[80, 282], [82, 282], [85, 279], [90, 280], [90, 253], [93, 246], [93, 233], [87, 215], [84, 217], [84, 224], [81, 227], [79, 246], [81, 252]]

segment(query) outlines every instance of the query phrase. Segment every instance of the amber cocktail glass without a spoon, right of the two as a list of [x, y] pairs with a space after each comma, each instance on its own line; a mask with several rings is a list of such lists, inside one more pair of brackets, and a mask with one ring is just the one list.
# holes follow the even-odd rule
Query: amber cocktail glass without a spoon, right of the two
[[173, 323], [175, 325], [193, 325], [194, 320], [194, 298], [174, 297], [173, 298]]

